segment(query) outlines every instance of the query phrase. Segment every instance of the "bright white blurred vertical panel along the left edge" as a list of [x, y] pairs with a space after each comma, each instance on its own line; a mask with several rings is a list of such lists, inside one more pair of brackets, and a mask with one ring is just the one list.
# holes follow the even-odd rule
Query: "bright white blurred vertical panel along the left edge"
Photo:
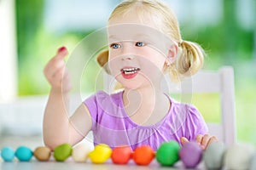
[[15, 0], [0, 1], [0, 103], [17, 94]]

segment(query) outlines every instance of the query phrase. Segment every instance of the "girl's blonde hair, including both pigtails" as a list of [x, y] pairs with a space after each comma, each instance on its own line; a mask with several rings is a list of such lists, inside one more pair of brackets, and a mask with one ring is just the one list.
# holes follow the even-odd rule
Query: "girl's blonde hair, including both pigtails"
[[[181, 77], [192, 76], [201, 69], [204, 62], [203, 49], [195, 42], [183, 41], [176, 15], [166, 3], [158, 0], [125, 0], [113, 9], [108, 21], [115, 17], [124, 16], [131, 10], [136, 12], [142, 21], [145, 17], [148, 19], [149, 14], [159, 31], [173, 42], [177, 42], [180, 53], [172, 65], [166, 65], [172, 80], [177, 81]], [[99, 62], [99, 64], [105, 65], [105, 62], [108, 62], [108, 53], [105, 51], [99, 54], [97, 60], [104, 61]]]

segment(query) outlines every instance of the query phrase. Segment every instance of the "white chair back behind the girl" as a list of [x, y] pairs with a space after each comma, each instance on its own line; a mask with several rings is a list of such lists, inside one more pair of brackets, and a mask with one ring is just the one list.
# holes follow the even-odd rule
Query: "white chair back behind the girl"
[[[113, 77], [105, 74], [104, 78], [106, 84], [104, 88], [111, 92], [110, 88], [113, 88], [114, 84]], [[223, 141], [224, 144], [229, 145], [236, 142], [235, 88], [232, 67], [223, 66], [218, 71], [199, 71], [193, 77], [184, 78], [179, 86], [177, 83], [171, 82], [170, 78], [165, 78], [165, 80], [163, 88], [170, 94], [218, 93], [221, 121], [218, 123], [207, 122], [209, 133], [217, 136], [219, 141]]]

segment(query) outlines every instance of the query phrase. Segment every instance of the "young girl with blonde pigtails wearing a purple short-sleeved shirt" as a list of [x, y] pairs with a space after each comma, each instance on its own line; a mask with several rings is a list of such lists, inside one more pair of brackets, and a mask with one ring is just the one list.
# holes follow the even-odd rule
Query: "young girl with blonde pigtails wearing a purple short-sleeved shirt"
[[[98, 62], [121, 85], [122, 90], [99, 91], [85, 99], [67, 117], [68, 92], [65, 72], [67, 49], [44, 68], [51, 85], [44, 113], [44, 143], [54, 149], [62, 143], [77, 144], [91, 130], [95, 144], [110, 147], [142, 144], [157, 150], [161, 143], [180, 144], [196, 140], [205, 149], [216, 137], [193, 105], [182, 104], [165, 94], [160, 82], [191, 76], [203, 64], [203, 51], [195, 42], [183, 41], [171, 9], [157, 0], [128, 0], [114, 8], [108, 20], [108, 51]], [[65, 84], [65, 86], [62, 86]]]

